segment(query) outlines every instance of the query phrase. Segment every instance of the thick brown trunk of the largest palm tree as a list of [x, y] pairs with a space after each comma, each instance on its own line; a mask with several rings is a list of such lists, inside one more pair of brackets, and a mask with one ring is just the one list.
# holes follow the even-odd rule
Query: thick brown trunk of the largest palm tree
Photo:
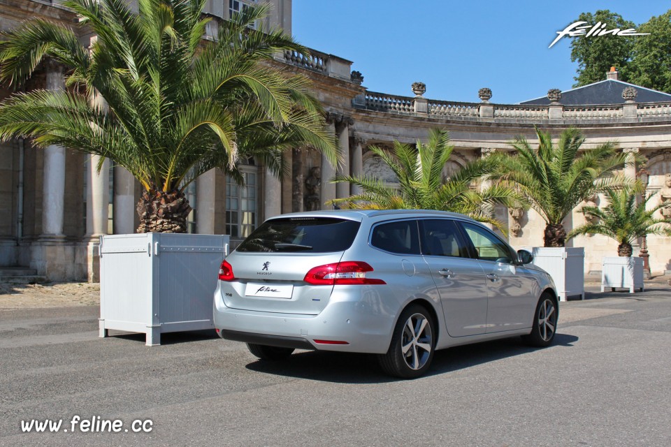
[[186, 233], [192, 208], [180, 191], [144, 191], [138, 200], [138, 233]]

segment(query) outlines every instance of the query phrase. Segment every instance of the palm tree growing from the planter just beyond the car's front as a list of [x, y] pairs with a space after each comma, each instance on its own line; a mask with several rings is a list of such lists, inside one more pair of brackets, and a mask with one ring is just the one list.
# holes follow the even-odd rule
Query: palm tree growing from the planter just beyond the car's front
[[549, 132], [535, 131], [537, 149], [520, 136], [512, 143], [517, 154], [493, 155], [501, 166], [493, 177], [514, 185], [544, 219], [545, 247], [564, 247], [562, 221], [586, 197], [626, 182], [612, 175], [625, 165], [626, 156], [616, 152], [614, 142], [579, 152], [585, 138], [577, 129], [563, 131], [557, 145], [552, 144]]

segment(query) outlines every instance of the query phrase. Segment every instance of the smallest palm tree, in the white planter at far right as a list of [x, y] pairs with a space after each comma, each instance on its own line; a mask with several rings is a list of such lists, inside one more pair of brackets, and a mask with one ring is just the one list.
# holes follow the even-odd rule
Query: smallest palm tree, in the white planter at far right
[[618, 256], [631, 256], [631, 244], [639, 237], [647, 235], [671, 236], [671, 224], [665, 219], [658, 219], [654, 214], [671, 203], [660, 203], [649, 207], [651, 193], [637, 203], [637, 195], [644, 191], [639, 183], [621, 189], [607, 189], [605, 196], [608, 205], [600, 207], [585, 206], [584, 214], [598, 218], [594, 223], [585, 223], [574, 228], [568, 237], [577, 235], [605, 235], [617, 241]]

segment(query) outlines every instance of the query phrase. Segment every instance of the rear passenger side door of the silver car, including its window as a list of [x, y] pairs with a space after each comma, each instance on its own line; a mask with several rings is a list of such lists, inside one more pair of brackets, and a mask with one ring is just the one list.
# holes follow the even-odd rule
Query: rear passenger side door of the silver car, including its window
[[431, 270], [450, 337], [483, 334], [487, 286], [479, 261], [470, 257], [452, 219], [421, 219], [422, 256]]

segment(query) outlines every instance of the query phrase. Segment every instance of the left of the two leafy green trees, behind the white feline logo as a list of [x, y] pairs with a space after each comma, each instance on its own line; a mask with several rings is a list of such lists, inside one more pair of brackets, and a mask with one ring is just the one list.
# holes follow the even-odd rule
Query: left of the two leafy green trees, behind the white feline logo
[[[591, 25], [602, 22], [608, 25], [607, 29], [636, 27], [634, 22], [624, 20], [621, 15], [611, 13], [607, 9], [597, 10], [594, 14], [582, 13], [577, 20]], [[573, 87], [605, 80], [606, 72], [612, 66], [618, 69], [626, 68], [632, 56], [634, 38], [639, 38], [639, 36], [626, 37], [607, 34], [599, 37], [577, 36], [572, 38], [571, 61], [578, 62], [578, 75], [574, 78], [577, 82]]]

